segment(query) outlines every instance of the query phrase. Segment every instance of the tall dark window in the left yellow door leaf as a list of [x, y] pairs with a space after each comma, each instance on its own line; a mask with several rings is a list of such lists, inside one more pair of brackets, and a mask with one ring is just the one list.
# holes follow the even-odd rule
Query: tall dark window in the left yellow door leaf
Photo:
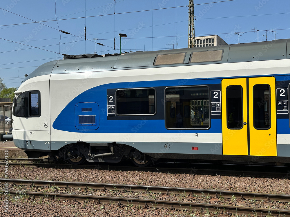
[[226, 88], [226, 123], [229, 129], [243, 128], [243, 88], [240, 85]]

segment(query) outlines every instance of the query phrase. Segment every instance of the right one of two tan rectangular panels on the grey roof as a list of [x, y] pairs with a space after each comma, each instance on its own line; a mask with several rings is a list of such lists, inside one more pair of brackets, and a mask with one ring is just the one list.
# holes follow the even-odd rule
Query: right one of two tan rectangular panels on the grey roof
[[192, 52], [190, 63], [222, 61], [223, 51], [224, 50]]

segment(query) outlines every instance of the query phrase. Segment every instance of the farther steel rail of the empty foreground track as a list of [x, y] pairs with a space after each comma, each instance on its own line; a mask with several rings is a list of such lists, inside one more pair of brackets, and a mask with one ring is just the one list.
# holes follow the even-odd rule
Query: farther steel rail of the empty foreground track
[[62, 181], [42, 181], [42, 180], [22, 180], [22, 179], [0, 179], [1, 184], [9, 182], [10, 185], [31, 185], [41, 187], [61, 187], [61, 188], [89, 188], [94, 190], [117, 190], [119, 192], [146, 192], [146, 193], [161, 193], [161, 194], [186, 194], [189, 197], [209, 196], [211, 198], [232, 198], [236, 197], [240, 201], [243, 200], [263, 200], [270, 203], [271, 201], [280, 201], [289, 203], [290, 195], [288, 194], [263, 194], [253, 192], [236, 192], [236, 191], [222, 191], [222, 190], [208, 190], [199, 188], [181, 188], [181, 187], [160, 187], [160, 186], [145, 186], [145, 185], [119, 185], [108, 183], [87, 183], [87, 182], [62, 182]]

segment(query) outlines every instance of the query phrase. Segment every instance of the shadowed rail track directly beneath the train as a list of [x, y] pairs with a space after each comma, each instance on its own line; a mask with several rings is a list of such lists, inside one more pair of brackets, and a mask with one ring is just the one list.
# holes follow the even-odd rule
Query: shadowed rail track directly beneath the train
[[[0, 158], [4, 162], [4, 158]], [[14, 162], [11, 162], [14, 161]], [[31, 166], [45, 168], [68, 168], [68, 169], [99, 169], [99, 170], [122, 170], [122, 171], [145, 171], [145, 172], [165, 172], [165, 173], [185, 173], [185, 174], [211, 174], [211, 175], [228, 175], [228, 176], [252, 176], [252, 177], [275, 177], [288, 178], [290, 167], [267, 166], [267, 165], [238, 165], [238, 164], [217, 164], [217, 163], [175, 163], [166, 164], [158, 163], [151, 167], [139, 168], [131, 166], [130, 163], [121, 165], [108, 163], [89, 163], [81, 165], [72, 165], [69, 163], [55, 163], [48, 159], [34, 158], [10, 158], [10, 166]], [[128, 166], [130, 165], [130, 166]], [[270, 172], [269, 172], [270, 171]]]

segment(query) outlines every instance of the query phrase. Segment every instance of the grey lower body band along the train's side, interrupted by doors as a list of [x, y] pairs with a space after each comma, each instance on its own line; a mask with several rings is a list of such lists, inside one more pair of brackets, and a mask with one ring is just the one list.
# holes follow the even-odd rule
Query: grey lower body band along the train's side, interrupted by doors
[[[27, 141], [14, 139], [16, 147], [25, 151], [50, 152], [59, 150], [68, 145], [75, 144], [75, 141]], [[254, 162], [290, 162], [290, 145], [278, 144], [277, 157], [264, 156], [240, 156], [222, 155], [222, 143], [178, 143], [178, 142], [116, 142], [136, 148], [137, 150], [162, 159], [198, 159], [198, 160], [221, 160], [221, 161], [244, 161], [249, 164]], [[50, 148], [52, 148], [50, 150]], [[195, 149], [195, 150], [192, 150]]]

